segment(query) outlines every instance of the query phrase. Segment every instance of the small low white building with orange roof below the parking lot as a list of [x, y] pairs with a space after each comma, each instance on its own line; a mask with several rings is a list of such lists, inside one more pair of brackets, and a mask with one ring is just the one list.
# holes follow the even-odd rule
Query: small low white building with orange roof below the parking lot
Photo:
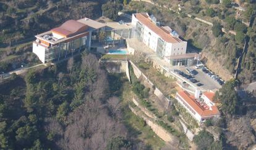
[[213, 92], [203, 92], [198, 95], [191, 95], [186, 91], [176, 93], [176, 100], [187, 109], [187, 111], [198, 121], [204, 122], [206, 119], [220, 117], [220, 111], [213, 102]]

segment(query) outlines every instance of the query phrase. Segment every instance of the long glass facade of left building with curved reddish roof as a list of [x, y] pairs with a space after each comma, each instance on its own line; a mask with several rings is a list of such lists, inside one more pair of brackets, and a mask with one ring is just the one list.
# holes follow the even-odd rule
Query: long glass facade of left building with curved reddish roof
[[69, 42], [61, 42], [45, 50], [45, 61], [58, 61], [61, 58], [66, 58], [68, 55], [73, 55], [86, 48], [88, 48], [87, 36]]

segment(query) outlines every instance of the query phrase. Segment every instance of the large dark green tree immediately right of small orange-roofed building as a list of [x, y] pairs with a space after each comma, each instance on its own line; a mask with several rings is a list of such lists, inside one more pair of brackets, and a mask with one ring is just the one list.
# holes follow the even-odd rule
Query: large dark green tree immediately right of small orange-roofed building
[[216, 92], [216, 99], [221, 102], [221, 111], [227, 116], [228, 114], [234, 114], [239, 104], [239, 97], [234, 87], [236, 81], [226, 82], [219, 92]]

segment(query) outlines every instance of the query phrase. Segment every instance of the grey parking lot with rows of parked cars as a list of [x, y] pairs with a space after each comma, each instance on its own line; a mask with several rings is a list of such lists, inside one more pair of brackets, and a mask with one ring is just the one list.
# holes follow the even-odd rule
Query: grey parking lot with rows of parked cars
[[[190, 82], [193, 85], [197, 86], [198, 89], [214, 90], [221, 88], [221, 84], [218, 83], [212, 77], [210, 77], [210, 75], [214, 75], [210, 73], [207, 74], [207, 72], [203, 72], [202, 68], [195, 69], [195, 66], [174, 66], [174, 68], [175, 69], [172, 69], [172, 71], [174, 71], [174, 73], [176, 73], [177, 75], [181, 76], [181, 78], [184, 79], [184, 82]], [[189, 74], [187, 68], [194, 70], [194, 76], [191, 76]]]

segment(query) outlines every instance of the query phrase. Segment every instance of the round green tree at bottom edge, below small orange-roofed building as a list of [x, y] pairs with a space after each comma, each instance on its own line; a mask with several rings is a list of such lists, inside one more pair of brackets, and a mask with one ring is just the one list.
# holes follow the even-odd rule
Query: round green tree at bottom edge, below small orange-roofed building
[[194, 136], [193, 141], [195, 144], [197, 144], [198, 149], [206, 150], [211, 145], [211, 143], [213, 143], [214, 139], [211, 133], [202, 130], [198, 133], [198, 135]]

